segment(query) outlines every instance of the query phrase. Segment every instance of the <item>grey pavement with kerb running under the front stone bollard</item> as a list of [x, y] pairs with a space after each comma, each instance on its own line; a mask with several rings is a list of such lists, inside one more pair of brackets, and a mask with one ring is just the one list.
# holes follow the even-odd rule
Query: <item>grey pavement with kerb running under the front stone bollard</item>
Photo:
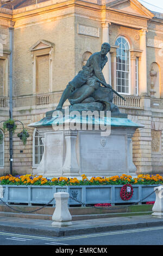
[[71, 236], [106, 231], [163, 226], [163, 218], [152, 215], [85, 219], [72, 221], [68, 227], [54, 227], [53, 221], [0, 216], [0, 231], [48, 236]]

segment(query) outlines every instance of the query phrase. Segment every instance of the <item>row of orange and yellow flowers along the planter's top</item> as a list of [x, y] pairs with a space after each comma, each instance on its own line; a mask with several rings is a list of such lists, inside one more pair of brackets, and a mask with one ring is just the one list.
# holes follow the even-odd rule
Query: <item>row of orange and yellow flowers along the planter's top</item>
[[156, 175], [143, 175], [140, 174], [136, 178], [131, 177], [130, 175], [122, 174], [121, 176], [115, 175], [112, 177], [91, 177], [90, 180], [86, 177], [85, 174], [82, 175], [82, 179], [78, 178], [67, 178], [59, 177], [48, 178], [43, 177], [42, 175], [33, 176], [31, 174], [27, 175], [5, 175], [0, 177], [1, 185], [37, 185], [37, 186], [90, 186], [90, 185], [124, 185], [124, 184], [163, 184], [163, 177], [159, 174]]

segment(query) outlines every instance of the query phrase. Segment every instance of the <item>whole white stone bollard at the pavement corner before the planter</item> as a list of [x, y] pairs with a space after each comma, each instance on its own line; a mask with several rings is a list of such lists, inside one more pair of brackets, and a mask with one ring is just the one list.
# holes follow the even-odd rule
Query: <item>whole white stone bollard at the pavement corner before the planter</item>
[[70, 195], [66, 192], [58, 192], [54, 194], [55, 211], [52, 216], [52, 226], [69, 226], [72, 225], [72, 216], [68, 210], [68, 198]]

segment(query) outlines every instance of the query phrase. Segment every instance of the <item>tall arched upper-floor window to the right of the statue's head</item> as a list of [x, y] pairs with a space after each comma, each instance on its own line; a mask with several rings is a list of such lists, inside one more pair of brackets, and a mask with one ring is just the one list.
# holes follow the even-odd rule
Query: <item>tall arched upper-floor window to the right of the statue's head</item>
[[117, 49], [116, 90], [130, 94], [130, 51], [129, 43], [124, 37], [118, 37], [115, 45]]

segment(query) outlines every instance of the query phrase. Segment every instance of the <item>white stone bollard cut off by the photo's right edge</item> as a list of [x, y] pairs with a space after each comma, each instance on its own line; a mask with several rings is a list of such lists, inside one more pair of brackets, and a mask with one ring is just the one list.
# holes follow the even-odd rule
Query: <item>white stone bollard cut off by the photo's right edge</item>
[[152, 208], [152, 216], [153, 217], [163, 217], [163, 186], [155, 187], [155, 203]]

